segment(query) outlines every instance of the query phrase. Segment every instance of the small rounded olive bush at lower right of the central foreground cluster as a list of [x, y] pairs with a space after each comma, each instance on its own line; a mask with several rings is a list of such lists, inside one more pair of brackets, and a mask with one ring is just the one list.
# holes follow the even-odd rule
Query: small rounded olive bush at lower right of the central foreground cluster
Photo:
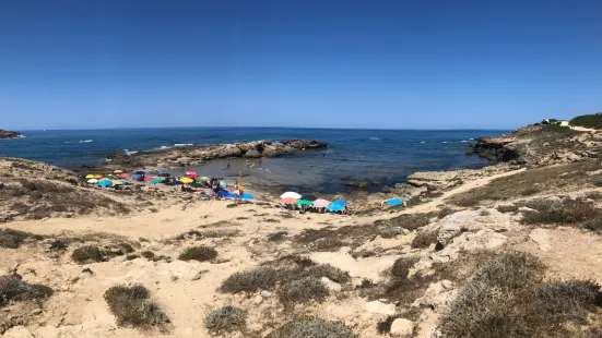
[[320, 302], [328, 297], [327, 287], [316, 277], [304, 277], [290, 280], [276, 290], [279, 300], [288, 306], [307, 303], [311, 300]]

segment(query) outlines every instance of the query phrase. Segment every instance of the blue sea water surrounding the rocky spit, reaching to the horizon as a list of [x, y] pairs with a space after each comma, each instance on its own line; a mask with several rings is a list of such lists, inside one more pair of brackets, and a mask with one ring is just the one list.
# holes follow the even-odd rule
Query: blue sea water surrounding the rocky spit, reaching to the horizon
[[[340, 130], [286, 128], [166, 128], [24, 131], [25, 137], [0, 140], [0, 156], [23, 157], [69, 169], [98, 165], [108, 153], [134, 154], [186, 145], [235, 143], [257, 140], [319, 140], [328, 150], [245, 160], [217, 160], [196, 168], [206, 176], [234, 177], [239, 170], [262, 182], [291, 189], [335, 193], [354, 181], [376, 181], [370, 190], [404, 182], [416, 171], [475, 169], [492, 165], [465, 153], [476, 137], [498, 136], [487, 130]], [[231, 162], [231, 170], [225, 170]], [[204, 171], [204, 172], [203, 172]]]

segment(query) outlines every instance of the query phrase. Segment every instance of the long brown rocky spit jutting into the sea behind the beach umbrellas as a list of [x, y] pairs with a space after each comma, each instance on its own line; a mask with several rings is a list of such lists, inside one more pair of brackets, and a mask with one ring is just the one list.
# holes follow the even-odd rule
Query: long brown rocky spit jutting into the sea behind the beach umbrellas
[[202, 161], [212, 159], [280, 157], [294, 155], [306, 149], [323, 149], [328, 146], [328, 143], [315, 140], [287, 140], [283, 142], [261, 140], [234, 144], [185, 146], [176, 149], [139, 152], [132, 155], [111, 153], [106, 156], [109, 162], [102, 168], [182, 168], [198, 166]]

